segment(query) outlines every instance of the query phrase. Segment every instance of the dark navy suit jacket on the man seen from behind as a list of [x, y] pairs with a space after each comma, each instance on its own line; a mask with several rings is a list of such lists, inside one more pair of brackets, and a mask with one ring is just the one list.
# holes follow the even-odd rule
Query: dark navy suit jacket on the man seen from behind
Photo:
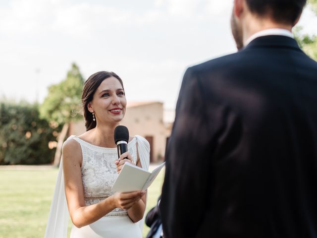
[[317, 62], [264, 36], [188, 68], [166, 163], [166, 238], [316, 238]]

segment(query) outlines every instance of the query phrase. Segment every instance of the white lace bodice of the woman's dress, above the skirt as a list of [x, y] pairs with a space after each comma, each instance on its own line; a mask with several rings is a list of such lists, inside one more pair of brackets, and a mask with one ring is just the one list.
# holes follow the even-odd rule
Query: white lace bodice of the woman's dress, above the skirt
[[[77, 136], [70, 137], [76, 140], [82, 150], [83, 161], [81, 167], [84, 186], [85, 205], [89, 206], [104, 200], [114, 194], [111, 187], [117, 178], [114, 162], [118, 159], [117, 148], [105, 148], [90, 144]], [[136, 137], [128, 143], [128, 151], [137, 160]], [[124, 216], [127, 211], [116, 208], [106, 216]]]

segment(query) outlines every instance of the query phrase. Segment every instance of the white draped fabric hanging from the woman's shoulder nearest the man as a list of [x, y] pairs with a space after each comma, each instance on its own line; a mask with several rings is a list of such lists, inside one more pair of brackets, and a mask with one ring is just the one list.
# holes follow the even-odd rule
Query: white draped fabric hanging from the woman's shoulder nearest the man
[[[148, 171], [150, 167], [150, 143], [140, 135], [136, 135], [135, 137], [138, 142], [138, 152], [141, 166], [143, 169]], [[144, 214], [142, 220], [138, 222], [141, 232], [143, 231], [145, 215], [146, 214]]]

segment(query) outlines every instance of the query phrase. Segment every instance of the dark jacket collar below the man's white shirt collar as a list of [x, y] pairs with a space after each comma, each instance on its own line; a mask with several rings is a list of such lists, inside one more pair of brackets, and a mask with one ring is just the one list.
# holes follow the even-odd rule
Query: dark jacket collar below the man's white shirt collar
[[287, 36], [261, 36], [251, 41], [242, 50], [253, 48], [292, 48], [293, 50], [301, 51], [296, 40]]

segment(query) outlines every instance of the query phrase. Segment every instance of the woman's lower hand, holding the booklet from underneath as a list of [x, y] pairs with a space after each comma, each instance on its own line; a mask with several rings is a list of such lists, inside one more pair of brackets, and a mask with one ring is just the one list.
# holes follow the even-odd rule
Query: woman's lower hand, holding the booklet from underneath
[[137, 203], [146, 191], [116, 192], [112, 196], [114, 207], [128, 210]]

